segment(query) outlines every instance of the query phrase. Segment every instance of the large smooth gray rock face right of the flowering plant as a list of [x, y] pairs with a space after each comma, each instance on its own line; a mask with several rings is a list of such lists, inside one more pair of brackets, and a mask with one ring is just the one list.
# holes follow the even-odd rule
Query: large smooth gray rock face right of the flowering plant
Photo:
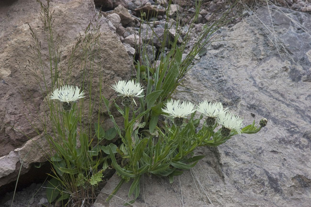
[[[183, 82], [199, 91], [183, 94], [190, 100], [221, 101], [245, 124], [266, 117], [268, 125], [217, 148], [198, 148], [196, 154], [206, 157], [172, 185], [166, 178], [144, 176], [134, 205], [310, 205], [311, 15], [277, 7], [270, 11], [275, 32], [267, 8], [257, 16], [271, 32], [255, 16], [222, 28], [217, 36], [227, 41], [213, 43]], [[102, 192], [111, 193], [118, 179], [113, 176]], [[121, 206], [131, 200], [130, 184], [109, 203], [101, 193], [93, 206]]]

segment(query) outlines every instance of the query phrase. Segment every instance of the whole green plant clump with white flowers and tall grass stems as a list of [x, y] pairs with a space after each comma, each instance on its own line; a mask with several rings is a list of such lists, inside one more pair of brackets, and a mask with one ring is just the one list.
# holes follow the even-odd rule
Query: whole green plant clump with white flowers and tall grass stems
[[[211, 43], [211, 35], [217, 31], [217, 26], [234, 18], [229, 18], [228, 14], [232, 12], [236, 3], [233, 3], [211, 26], [203, 27], [198, 40], [183, 58], [202, 2], [197, 1], [190, 29], [183, 41], [178, 43], [181, 38], [178, 34], [183, 21], [178, 14], [174, 17], [176, 34], [172, 38], [170, 34], [172, 24], [169, 24], [172, 2], [169, 0], [160, 55], [154, 54], [153, 57], [160, 60], [160, 64], [151, 64], [144, 48], [139, 47], [140, 61], [135, 62], [135, 76], [132, 80], [123, 80], [111, 85], [110, 87], [118, 93], [118, 98], [109, 101], [103, 95], [105, 88], [101, 77], [98, 80], [98, 90], [96, 92], [92, 90], [93, 71], [100, 68], [100, 63], [97, 64], [98, 68], [95, 68], [95, 57], [100, 56], [98, 48], [100, 48], [101, 14], [97, 16], [97, 20], [90, 22], [84, 34], [73, 45], [68, 68], [62, 69], [58, 63], [61, 57], [58, 37], [53, 37], [53, 12], [49, 11], [49, 1], [47, 5], [37, 1], [41, 5], [41, 20], [49, 47], [49, 75], [44, 74], [41, 43], [31, 27], [37, 61], [30, 64], [35, 71], [34, 74], [40, 73], [40, 78], [44, 79], [45, 85], [42, 86], [38, 75], [42, 93], [53, 91], [49, 98], [44, 99], [48, 114], [41, 120], [43, 135], [49, 142], [51, 152], [46, 156], [53, 166], [50, 173], [52, 179], [49, 180], [47, 190], [49, 202], [57, 199], [65, 201], [65, 206], [82, 204], [90, 206], [95, 200], [96, 190], [103, 183], [104, 172], [114, 168], [122, 179], [107, 200], [111, 199], [124, 182], [133, 179], [128, 196], [134, 194], [134, 199], [125, 205], [131, 204], [139, 195], [139, 183], [143, 174], [166, 176], [173, 182], [174, 176], [181, 175], [184, 170], [194, 167], [204, 158], [203, 155], [195, 155], [194, 150], [197, 147], [216, 147], [236, 134], [257, 133], [267, 125], [267, 120], [263, 119], [260, 125], [255, 125], [254, 121], [244, 127], [243, 119], [230, 113], [227, 108], [224, 109], [220, 102], [203, 101], [196, 105], [172, 98], [178, 92], [177, 87], [183, 86], [185, 74], [193, 67], [195, 57], [204, 53], [205, 47]], [[144, 17], [146, 14], [142, 13], [141, 16]], [[142, 20], [141, 23], [144, 22]], [[149, 32], [154, 38], [158, 38], [153, 27], [148, 25]], [[140, 31], [141, 36], [147, 34]], [[169, 41], [170, 50], [164, 55], [166, 41]], [[71, 79], [77, 53], [82, 61], [81, 87], [72, 86]], [[86, 96], [85, 92], [89, 95]], [[99, 103], [99, 108], [94, 108], [92, 102], [94, 100]], [[123, 107], [119, 106], [120, 101]], [[88, 106], [88, 115], [85, 115], [84, 106]], [[100, 121], [102, 106], [107, 109], [107, 114], [114, 125], [106, 131], [103, 122]], [[121, 114], [123, 123], [115, 120], [111, 112], [112, 107]], [[92, 123], [92, 114], [97, 114], [97, 122]], [[116, 138], [119, 139], [116, 141]]]

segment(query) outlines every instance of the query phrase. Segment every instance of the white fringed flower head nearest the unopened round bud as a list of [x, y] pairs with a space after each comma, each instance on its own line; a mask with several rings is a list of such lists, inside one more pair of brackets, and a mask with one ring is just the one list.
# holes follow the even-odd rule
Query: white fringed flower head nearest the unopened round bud
[[216, 121], [218, 124], [222, 125], [221, 134], [223, 136], [229, 136], [233, 129], [236, 130], [238, 134], [241, 134], [241, 128], [244, 126], [243, 119], [231, 112], [219, 114]]

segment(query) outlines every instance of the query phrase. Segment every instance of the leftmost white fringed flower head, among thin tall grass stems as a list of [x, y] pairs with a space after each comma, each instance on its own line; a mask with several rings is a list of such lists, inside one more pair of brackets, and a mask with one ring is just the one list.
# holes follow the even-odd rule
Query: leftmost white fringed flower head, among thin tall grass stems
[[78, 99], [83, 98], [84, 92], [80, 93], [79, 87], [64, 85], [60, 89], [55, 89], [50, 96], [50, 99], [57, 99], [63, 102], [63, 108], [67, 111], [71, 109], [71, 102], [77, 102]]

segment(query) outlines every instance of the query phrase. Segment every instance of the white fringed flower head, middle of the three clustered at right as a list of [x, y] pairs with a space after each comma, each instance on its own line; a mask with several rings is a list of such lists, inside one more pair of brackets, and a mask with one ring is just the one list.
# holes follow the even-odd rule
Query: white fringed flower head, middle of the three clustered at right
[[199, 103], [199, 106], [197, 106], [197, 111], [204, 116], [207, 116], [207, 125], [215, 125], [216, 117], [218, 117], [218, 115], [221, 113], [227, 112], [228, 108], [224, 109], [222, 103], [220, 102], [212, 103], [205, 100]]

